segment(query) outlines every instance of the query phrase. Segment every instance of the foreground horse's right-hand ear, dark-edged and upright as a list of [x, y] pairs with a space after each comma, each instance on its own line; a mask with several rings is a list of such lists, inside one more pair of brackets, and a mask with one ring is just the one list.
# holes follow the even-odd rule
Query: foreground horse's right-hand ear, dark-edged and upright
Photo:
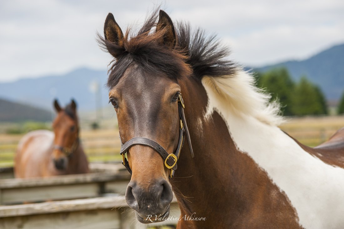
[[165, 11], [160, 10], [159, 12], [159, 21], [157, 24], [157, 28], [155, 29], [156, 32], [164, 30], [164, 37], [163, 37], [163, 44], [168, 46], [169, 48], [174, 49], [177, 43], [177, 37], [175, 35], [175, 30], [173, 26], [173, 22], [169, 15], [165, 13]]

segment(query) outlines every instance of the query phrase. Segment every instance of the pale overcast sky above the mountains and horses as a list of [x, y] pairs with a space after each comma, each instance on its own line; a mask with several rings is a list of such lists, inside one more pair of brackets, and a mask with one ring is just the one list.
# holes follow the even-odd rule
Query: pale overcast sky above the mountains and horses
[[112, 57], [96, 33], [107, 14], [125, 31], [160, 4], [173, 21], [217, 34], [245, 66], [307, 59], [344, 43], [343, 0], [1, 0], [0, 82], [106, 70]]

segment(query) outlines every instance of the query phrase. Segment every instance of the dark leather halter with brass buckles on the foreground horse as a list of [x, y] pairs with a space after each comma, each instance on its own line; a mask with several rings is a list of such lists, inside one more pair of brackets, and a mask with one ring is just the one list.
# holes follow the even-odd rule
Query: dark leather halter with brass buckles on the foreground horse
[[[187, 142], [190, 146], [191, 157], [194, 157], [192, 146], [191, 146], [191, 139], [189, 129], [187, 129], [185, 115], [184, 115], [184, 101], [182, 95], [179, 94], [178, 97], [178, 112], [179, 112], [179, 119], [180, 119], [180, 131], [179, 131], [179, 142], [175, 153], [169, 154], [159, 143], [145, 137], [133, 137], [128, 140], [126, 143], [122, 144], [120, 154], [122, 155], [122, 164], [127, 168], [130, 174], [132, 174], [131, 168], [129, 166], [129, 162], [125, 157], [128, 149], [133, 145], [144, 145], [153, 148], [158, 154], [162, 157], [164, 161], [164, 165], [166, 168], [171, 169], [170, 177], [172, 178], [174, 175], [174, 171], [177, 169], [177, 160], [179, 158], [180, 151], [184, 145], [184, 134], [186, 134]], [[121, 137], [119, 137], [121, 139]], [[121, 141], [122, 142], [122, 141]]]

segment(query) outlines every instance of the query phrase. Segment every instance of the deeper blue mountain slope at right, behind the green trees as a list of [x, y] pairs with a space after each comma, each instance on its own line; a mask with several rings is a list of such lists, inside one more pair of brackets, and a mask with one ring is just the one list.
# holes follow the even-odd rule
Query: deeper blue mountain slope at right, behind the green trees
[[344, 44], [333, 46], [307, 60], [287, 61], [253, 69], [265, 72], [277, 67], [286, 67], [297, 81], [306, 75], [321, 87], [327, 100], [339, 100], [344, 92]]

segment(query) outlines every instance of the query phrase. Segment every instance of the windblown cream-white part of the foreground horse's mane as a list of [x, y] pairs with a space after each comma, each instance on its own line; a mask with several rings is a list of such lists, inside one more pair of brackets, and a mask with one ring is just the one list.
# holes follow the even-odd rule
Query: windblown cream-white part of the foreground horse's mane
[[224, 77], [204, 76], [202, 83], [227, 100], [226, 104], [236, 114], [250, 115], [274, 126], [284, 122], [279, 115], [280, 104], [277, 101], [269, 103], [271, 96], [255, 86], [255, 79], [248, 72], [239, 71], [234, 76]]

